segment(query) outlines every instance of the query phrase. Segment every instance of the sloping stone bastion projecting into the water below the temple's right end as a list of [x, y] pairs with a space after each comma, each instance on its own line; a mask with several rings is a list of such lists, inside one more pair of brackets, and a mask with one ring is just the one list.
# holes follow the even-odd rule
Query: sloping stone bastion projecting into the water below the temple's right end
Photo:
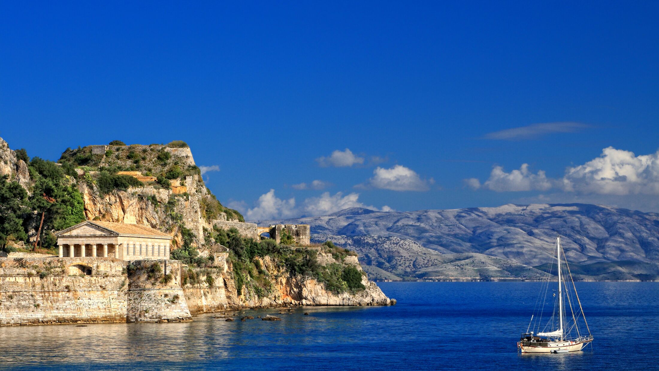
[[181, 289], [181, 262], [137, 260], [129, 266], [127, 322], [192, 319]]

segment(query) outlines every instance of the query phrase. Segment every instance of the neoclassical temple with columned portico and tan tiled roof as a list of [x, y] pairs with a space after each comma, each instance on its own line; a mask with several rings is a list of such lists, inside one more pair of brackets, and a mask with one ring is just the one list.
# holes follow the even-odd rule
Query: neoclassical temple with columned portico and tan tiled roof
[[55, 236], [60, 258], [169, 259], [171, 236], [146, 225], [87, 220], [59, 231]]

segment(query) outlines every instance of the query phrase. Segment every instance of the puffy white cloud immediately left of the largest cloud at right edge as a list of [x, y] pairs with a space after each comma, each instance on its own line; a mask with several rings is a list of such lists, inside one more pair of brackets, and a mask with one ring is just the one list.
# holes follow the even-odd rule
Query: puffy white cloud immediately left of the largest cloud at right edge
[[[478, 179], [471, 178], [465, 181], [474, 188]], [[490, 173], [490, 179], [483, 183], [482, 188], [496, 192], [548, 190], [552, 188], [552, 181], [547, 178], [544, 171], [540, 170], [537, 174], [531, 173], [529, 164], [523, 163], [519, 170], [513, 170], [510, 173], [503, 171], [501, 166], [495, 166]], [[474, 189], [478, 189], [478, 187]]]

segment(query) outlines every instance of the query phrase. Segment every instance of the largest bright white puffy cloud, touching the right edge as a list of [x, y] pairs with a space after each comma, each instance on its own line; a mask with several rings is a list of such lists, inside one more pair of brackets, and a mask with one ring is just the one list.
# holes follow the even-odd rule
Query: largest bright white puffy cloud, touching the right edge
[[582, 194], [659, 194], [659, 151], [635, 156], [608, 147], [600, 157], [565, 170], [563, 190]]

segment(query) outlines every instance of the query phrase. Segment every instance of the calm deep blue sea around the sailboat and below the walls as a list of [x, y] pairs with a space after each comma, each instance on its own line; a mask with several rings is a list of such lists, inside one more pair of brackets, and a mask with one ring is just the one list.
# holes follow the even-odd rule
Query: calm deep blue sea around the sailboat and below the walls
[[[0, 328], [0, 368], [220, 370], [659, 369], [659, 283], [577, 283], [592, 350], [521, 355], [540, 283], [380, 283], [390, 307], [304, 308], [281, 322]], [[309, 316], [302, 315], [304, 311]]]

